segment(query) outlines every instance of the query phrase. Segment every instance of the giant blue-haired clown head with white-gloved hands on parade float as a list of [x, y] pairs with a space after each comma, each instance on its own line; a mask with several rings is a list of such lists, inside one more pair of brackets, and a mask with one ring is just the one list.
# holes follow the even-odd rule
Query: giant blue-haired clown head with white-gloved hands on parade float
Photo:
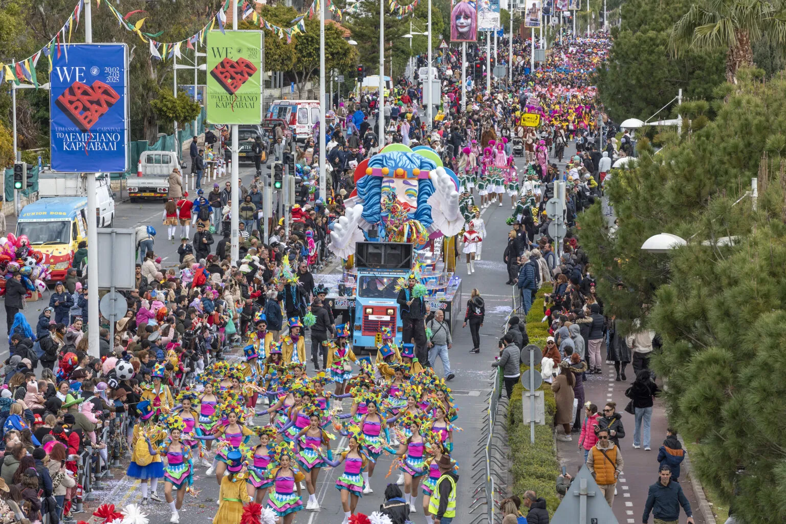
[[365, 233], [374, 226], [380, 241], [421, 248], [429, 239], [455, 235], [464, 225], [458, 178], [432, 148], [388, 145], [358, 164], [354, 182], [345, 201], [347, 212], [331, 233], [331, 249], [342, 258], [354, 253], [354, 243], [368, 238]]

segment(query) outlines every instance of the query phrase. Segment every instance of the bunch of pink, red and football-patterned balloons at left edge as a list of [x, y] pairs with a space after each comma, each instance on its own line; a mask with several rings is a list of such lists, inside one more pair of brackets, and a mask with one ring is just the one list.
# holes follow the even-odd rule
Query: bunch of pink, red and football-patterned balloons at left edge
[[0, 296], [6, 294], [6, 280], [14, 273], [22, 274], [22, 284], [29, 291], [45, 291], [51, 271], [43, 260], [43, 253], [30, 247], [27, 235], [0, 237]]

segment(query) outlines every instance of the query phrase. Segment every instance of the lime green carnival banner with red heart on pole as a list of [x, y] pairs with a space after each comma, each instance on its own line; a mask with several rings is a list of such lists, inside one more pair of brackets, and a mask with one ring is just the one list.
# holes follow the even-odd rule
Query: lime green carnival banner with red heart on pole
[[208, 122], [262, 122], [262, 32], [208, 32]]

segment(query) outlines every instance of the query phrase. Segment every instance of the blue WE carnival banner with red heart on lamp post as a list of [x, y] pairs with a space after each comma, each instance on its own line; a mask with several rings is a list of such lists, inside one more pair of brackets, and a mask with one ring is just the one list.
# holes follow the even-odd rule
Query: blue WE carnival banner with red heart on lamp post
[[50, 59], [52, 170], [127, 171], [128, 46], [69, 44]]

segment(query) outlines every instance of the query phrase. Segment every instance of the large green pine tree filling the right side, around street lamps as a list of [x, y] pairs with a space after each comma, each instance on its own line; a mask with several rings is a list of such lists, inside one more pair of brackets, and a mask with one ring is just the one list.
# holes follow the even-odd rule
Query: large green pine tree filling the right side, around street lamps
[[[743, 69], [719, 87], [713, 120], [681, 107], [693, 117], [681, 141], [656, 137], [667, 140], [656, 154], [643, 141], [638, 167], [612, 170], [619, 229], [596, 205], [578, 236], [607, 315], [642, 319], [663, 341], [653, 366], [670, 424], [698, 443], [692, 467], [744, 522], [775, 524], [786, 520], [786, 75], [762, 75]], [[744, 193], [757, 176], [754, 210]], [[688, 245], [641, 251], [664, 232]]]

